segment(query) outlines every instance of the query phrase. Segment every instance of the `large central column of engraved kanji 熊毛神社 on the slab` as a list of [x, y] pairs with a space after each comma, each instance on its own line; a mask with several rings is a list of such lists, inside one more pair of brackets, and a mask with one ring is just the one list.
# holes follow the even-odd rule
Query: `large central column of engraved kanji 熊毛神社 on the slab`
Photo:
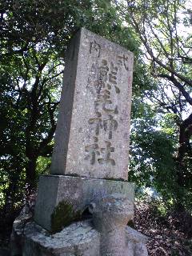
[[[98, 54], [100, 48], [96, 42], [90, 42], [90, 53]], [[123, 63], [123, 59], [122, 59]], [[118, 129], [118, 121], [115, 115], [118, 114], [118, 106], [113, 103], [114, 91], [120, 93], [118, 88], [118, 66], [114, 62], [108, 62], [102, 59], [94, 60], [90, 69], [88, 86], [93, 85], [96, 92], [94, 100], [94, 113], [96, 117], [89, 118], [88, 124], [94, 130], [94, 142], [85, 147], [86, 160], [90, 161], [91, 165], [98, 163], [99, 165], [109, 164], [115, 166], [115, 161], [111, 157], [114, 152], [114, 146], [110, 140], [113, 138], [114, 131]], [[96, 86], [96, 87], [95, 87]], [[114, 90], [111, 90], [111, 87]], [[91, 88], [89, 90], [92, 91]], [[106, 139], [102, 142], [103, 137]], [[108, 141], [109, 140], [109, 141]], [[103, 146], [103, 143], [105, 146]]]

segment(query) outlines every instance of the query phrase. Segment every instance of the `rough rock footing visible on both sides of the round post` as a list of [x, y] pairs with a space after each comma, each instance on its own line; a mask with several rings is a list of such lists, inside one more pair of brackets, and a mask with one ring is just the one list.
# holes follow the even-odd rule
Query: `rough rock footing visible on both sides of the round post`
[[[100, 252], [101, 237], [92, 220], [75, 222], [50, 234], [31, 220], [27, 209], [14, 221], [11, 256], [113, 256]], [[121, 256], [147, 256], [148, 238], [126, 226], [126, 250]]]

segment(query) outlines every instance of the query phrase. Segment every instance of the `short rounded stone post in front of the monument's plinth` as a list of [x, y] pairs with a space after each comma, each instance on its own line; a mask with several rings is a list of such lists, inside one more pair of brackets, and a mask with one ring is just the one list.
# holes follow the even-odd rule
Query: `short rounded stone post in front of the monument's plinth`
[[126, 225], [134, 217], [134, 204], [123, 194], [108, 194], [90, 204], [94, 227], [101, 234], [100, 254], [126, 255]]

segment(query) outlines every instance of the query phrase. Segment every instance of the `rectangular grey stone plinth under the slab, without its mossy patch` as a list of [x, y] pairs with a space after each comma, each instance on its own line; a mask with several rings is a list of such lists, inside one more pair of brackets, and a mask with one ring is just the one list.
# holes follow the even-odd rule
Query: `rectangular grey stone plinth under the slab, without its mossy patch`
[[75, 210], [85, 210], [90, 202], [107, 194], [121, 193], [134, 202], [134, 184], [97, 178], [63, 175], [42, 175], [38, 183], [38, 198], [34, 220], [46, 230], [51, 229], [51, 215], [59, 202], [69, 202]]

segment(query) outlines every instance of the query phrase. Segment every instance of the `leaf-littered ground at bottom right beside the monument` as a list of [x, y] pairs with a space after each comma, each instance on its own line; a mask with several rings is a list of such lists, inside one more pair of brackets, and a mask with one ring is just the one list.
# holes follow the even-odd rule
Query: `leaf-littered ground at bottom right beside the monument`
[[192, 256], [191, 216], [157, 213], [157, 204], [136, 202], [134, 228], [150, 238], [150, 256]]

